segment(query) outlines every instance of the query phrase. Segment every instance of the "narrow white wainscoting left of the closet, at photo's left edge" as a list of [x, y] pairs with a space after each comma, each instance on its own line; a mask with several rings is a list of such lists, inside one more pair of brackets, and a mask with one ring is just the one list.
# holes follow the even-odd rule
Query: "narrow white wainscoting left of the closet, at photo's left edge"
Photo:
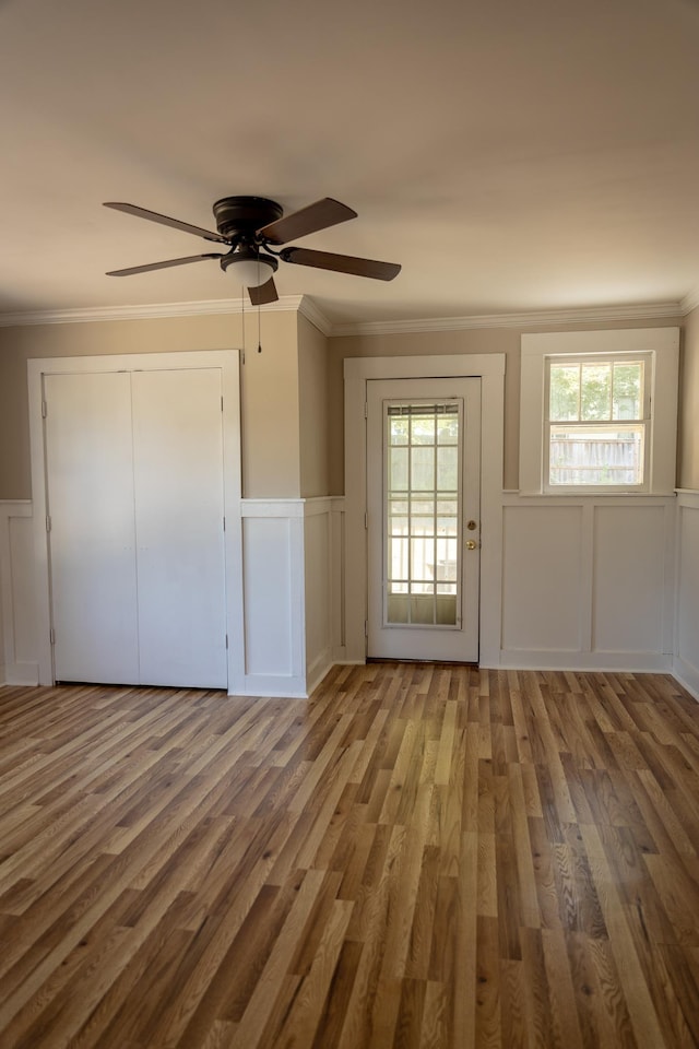
[[36, 685], [32, 504], [0, 500], [0, 684]]

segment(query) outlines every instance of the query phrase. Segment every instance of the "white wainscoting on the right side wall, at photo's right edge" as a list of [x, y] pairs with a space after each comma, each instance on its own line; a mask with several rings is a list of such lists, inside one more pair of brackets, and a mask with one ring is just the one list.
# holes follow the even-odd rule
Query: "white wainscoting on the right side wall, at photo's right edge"
[[699, 699], [699, 492], [677, 493], [677, 610], [673, 673]]

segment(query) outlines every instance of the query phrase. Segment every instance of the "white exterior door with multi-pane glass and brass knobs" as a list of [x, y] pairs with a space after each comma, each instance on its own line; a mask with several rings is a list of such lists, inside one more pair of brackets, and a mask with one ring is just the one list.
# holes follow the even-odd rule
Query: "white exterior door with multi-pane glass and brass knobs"
[[481, 380], [367, 382], [367, 655], [478, 659]]

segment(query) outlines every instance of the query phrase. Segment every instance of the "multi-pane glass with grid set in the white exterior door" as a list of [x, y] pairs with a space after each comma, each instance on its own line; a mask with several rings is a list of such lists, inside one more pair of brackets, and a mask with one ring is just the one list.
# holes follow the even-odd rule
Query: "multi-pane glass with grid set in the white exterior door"
[[384, 412], [384, 624], [458, 627], [463, 402]]

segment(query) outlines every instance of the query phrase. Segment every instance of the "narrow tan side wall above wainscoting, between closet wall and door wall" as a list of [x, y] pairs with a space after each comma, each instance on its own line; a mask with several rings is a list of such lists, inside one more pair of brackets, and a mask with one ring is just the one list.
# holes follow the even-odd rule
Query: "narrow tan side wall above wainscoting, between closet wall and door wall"
[[329, 495], [328, 339], [298, 315], [300, 494]]

